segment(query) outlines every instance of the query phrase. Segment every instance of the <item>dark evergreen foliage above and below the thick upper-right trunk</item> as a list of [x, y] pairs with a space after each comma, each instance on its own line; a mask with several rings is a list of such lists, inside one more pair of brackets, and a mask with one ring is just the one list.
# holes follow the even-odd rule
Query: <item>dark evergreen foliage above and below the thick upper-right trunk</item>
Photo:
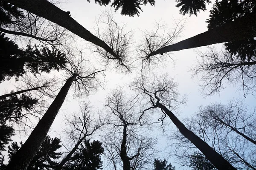
[[[255, 0], [217, 0], [207, 19], [207, 27], [209, 30], [214, 29], [250, 13], [256, 13]], [[231, 55], [240, 57], [241, 61], [256, 59], [256, 40], [253, 37], [248, 40], [227, 42], [224, 45]]]

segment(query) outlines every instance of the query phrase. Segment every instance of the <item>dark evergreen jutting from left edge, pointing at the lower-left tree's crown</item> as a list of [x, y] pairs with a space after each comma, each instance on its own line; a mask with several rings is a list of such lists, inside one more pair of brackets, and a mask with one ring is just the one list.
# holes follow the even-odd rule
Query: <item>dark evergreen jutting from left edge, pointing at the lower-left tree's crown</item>
[[26, 73], [25, 68], [35, 75], [59, 70], [67, 63], [65, 55], [56, 49], [50, 50], [47, 46], [38, 49], [29, 43], [23, 50], [4, 33], [0, 33], [0, 43], [0, 82], [22, 76]]

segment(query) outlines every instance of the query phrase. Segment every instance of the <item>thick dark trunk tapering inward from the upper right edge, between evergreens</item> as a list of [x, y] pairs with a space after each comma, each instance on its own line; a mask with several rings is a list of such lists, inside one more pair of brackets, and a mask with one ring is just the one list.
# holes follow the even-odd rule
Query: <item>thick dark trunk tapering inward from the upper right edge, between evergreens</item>
[[247, 14], [223, 26], [161, 48], [151, 53], [150, 56], [252, 37], [256, 37], [256, 14]]

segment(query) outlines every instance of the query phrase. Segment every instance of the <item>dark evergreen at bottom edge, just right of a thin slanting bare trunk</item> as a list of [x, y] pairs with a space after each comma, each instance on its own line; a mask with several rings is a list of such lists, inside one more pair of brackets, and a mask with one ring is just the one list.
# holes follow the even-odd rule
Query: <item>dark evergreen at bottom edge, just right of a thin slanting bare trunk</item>
[[89, 142], [84, 140], [81, 148], [71, 157], [70, 161], [64, 167], [65, 170], [99, 170], [102, 169], [100, 155], [104, 148], [99, 141]]

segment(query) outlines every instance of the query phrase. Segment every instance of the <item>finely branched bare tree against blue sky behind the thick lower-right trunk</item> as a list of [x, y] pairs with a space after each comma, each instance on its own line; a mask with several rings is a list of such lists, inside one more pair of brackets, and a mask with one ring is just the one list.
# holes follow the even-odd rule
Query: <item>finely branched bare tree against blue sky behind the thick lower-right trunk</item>
[[[255, 170], [255, 113], [248, 112], [241, 101], [230, 101], [228, 105], [212, 104], [201, 107], [186, 127], [200, 136], [214, 150], [238, 169]], [[184, 166], [195, 152], [193, 144], [175, 131], [170, 138], [174, 155]]]

